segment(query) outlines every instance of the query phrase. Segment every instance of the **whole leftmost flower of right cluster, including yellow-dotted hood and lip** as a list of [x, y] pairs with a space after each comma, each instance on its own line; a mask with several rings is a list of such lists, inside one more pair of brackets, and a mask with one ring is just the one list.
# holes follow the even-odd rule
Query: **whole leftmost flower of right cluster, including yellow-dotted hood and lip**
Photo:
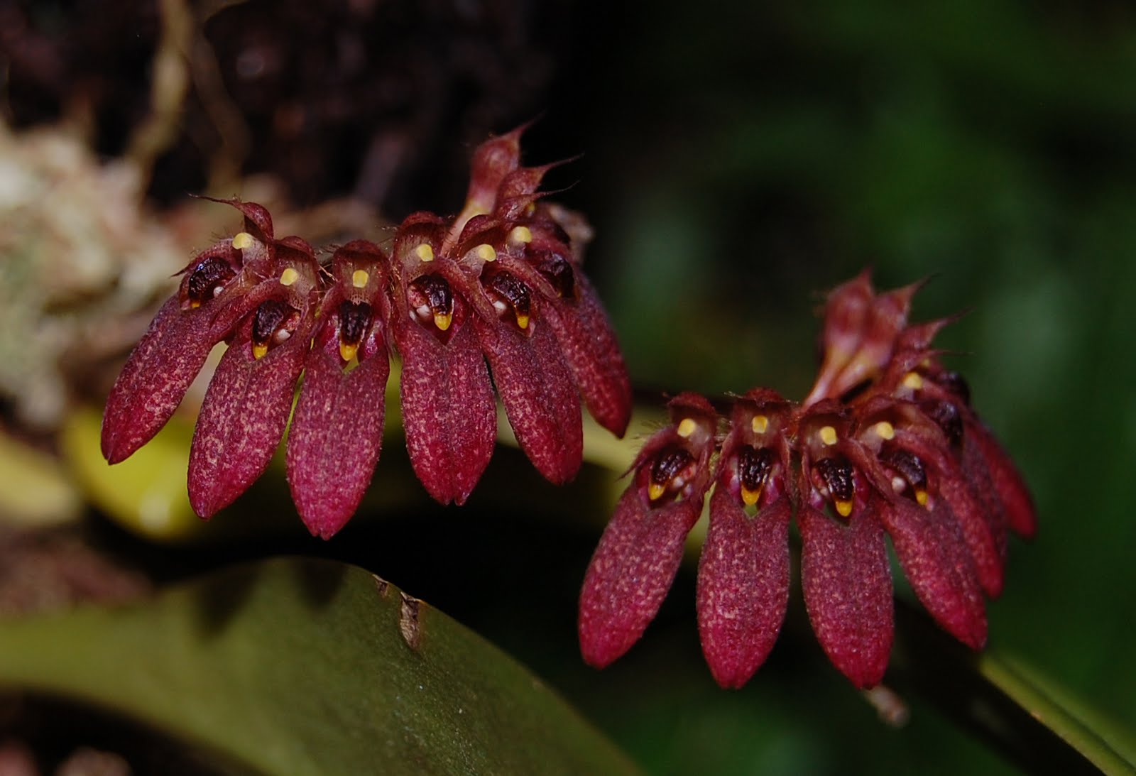
[[643, 445], [584, 578], [579, 643], [598, 668], [630, 649], [654, 619], [710, 486], [713, 408], [693, 393], [668, 406], [671, 425]]

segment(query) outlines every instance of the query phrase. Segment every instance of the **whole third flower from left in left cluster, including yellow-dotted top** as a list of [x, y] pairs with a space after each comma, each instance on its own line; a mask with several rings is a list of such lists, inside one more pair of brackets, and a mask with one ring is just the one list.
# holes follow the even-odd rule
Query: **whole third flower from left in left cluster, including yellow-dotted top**
[[331, 539], [354, 514], [383, 443], [391, 373], [386, 255], [356, 240], [332, 257], [315, 344], [287, 440], [292, 500], [314, 535]]

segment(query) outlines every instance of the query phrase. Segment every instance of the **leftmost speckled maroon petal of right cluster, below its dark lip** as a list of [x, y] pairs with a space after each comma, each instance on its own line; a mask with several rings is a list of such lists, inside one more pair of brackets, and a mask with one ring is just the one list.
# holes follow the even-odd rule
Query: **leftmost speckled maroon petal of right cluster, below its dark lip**
[[702, 499], [651, 509], [643, 486], [624, 492], [592, 556], [579, 599], [584, 660], [603, 668], [632, 648], [654, 619], [683, 560]]

